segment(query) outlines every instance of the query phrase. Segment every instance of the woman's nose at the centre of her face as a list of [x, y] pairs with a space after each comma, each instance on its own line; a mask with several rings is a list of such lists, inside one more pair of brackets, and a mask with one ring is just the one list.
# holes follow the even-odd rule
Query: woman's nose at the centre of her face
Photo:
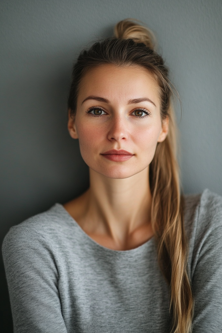
[[121, 140], [127, 140], [127, 124], [125, 122], [124, 117], [121, 116], [115, 116], [112, 118], [110, 123], [110, 129], [108, 133], [108, 139], [110, 141], [121, 141]]

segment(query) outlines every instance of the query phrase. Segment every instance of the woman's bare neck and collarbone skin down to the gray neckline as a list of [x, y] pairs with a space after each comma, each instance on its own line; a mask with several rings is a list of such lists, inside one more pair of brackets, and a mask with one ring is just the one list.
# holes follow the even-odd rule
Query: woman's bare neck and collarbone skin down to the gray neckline
[[148, 170], [130, 178], [91, 171], [89, 190], [64, 205], [89, 237], [113, 250], [136, 248], [153, 236]]

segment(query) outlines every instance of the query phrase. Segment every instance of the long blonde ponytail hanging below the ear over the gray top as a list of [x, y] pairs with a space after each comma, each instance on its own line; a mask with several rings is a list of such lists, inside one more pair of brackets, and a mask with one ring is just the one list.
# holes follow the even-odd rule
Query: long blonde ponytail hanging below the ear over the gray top
[[157, 240], [159, 264], [170, 286], [171, 332], [188, 333], [192, 326], [193, 295], [187, 272], [184, 200], [180, 195], [172, 108], [168, 112], [169, 133], [162, 143], [157, 144], [150, 164], [151, 223]]

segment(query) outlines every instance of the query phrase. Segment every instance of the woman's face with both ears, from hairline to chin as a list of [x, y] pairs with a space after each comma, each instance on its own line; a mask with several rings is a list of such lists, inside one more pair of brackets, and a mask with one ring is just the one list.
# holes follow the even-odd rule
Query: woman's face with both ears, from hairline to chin
[[68, 128], [90, 168], [127, 178], [149, 166], [168, 119], [161, 121], [159, 87], [148, 71], [101, 65], [83, 77]]

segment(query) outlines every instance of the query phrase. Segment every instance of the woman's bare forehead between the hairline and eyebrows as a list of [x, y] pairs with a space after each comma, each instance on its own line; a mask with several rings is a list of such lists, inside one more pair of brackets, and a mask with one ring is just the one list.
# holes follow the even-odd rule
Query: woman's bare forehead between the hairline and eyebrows
[[148, 97], [159, 104], [160, 88], [154, 77], [143, 67], [100, 65], [82, 78], [78, 101], [95, 95], [124, 103], [130, 99]]

